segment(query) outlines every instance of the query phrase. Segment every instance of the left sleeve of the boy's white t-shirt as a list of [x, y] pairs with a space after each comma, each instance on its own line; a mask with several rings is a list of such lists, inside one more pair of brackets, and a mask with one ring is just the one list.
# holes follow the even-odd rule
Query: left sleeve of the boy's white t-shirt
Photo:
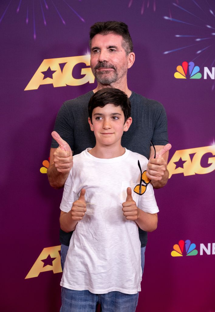
[[62, 197], [62, 201], [60, 204], [60, 210], [64, 212], [69, 212], [72, 208], [73, 202], [75, 202], [77, 199], [78, 199], [78, 194], [74, 190], [74, 183], [72, 179], [72, 174], [70, 172], [64, 184], [63, 197]]

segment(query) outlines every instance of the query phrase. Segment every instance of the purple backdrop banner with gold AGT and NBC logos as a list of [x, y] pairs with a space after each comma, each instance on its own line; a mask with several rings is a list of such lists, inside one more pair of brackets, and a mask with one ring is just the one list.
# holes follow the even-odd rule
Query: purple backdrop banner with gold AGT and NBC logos
[[164, 105], [172, 144], [137, 311], [214, 312], [214, 0], [1, 1], [1, 311], [60, 308], [51, 132], [63, 102], [96, 87], [88, 33], [107, 20], [128, 24], [129, 89]]

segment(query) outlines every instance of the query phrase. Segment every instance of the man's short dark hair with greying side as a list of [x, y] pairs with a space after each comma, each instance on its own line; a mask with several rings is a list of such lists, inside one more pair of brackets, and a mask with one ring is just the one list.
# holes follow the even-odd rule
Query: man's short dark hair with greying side
[[129, 34], [128, 25], [116, 21], [97, 22], [90, 27], [90, 48], [94, 36], [97, 34], [107, 35], [109, 33], [114, 33], [123, 37], [122, 47], [127, 55], [133, 52], [133, 42]]

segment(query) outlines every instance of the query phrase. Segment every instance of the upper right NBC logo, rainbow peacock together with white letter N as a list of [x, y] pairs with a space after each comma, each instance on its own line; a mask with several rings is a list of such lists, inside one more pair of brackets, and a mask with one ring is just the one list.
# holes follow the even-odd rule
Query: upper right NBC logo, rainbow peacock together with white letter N
[[[178, 65], [176, 67], [176, 72], [174, 77], [177, 79], [200, 79], [202, 78], [202, 74], [199, 72], [199, 66], [195, 66], [194, 62], [183, 62], [182, 66]], [[211, 79], [215, 79], [215, 67], [212, 67], [210, 71], [208, 67], [204, 67], [204, 79], [207, 79], [208, 76]]]

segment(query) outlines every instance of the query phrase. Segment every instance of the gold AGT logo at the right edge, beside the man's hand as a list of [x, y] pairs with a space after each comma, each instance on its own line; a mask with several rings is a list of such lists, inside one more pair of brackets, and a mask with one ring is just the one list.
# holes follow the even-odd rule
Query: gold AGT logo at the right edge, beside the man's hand
[[176, 173], [184, 176], [210, 173], [215, 170], [214, 156], [215, 145], [175, 151], [167, 165], [169, 178]]

